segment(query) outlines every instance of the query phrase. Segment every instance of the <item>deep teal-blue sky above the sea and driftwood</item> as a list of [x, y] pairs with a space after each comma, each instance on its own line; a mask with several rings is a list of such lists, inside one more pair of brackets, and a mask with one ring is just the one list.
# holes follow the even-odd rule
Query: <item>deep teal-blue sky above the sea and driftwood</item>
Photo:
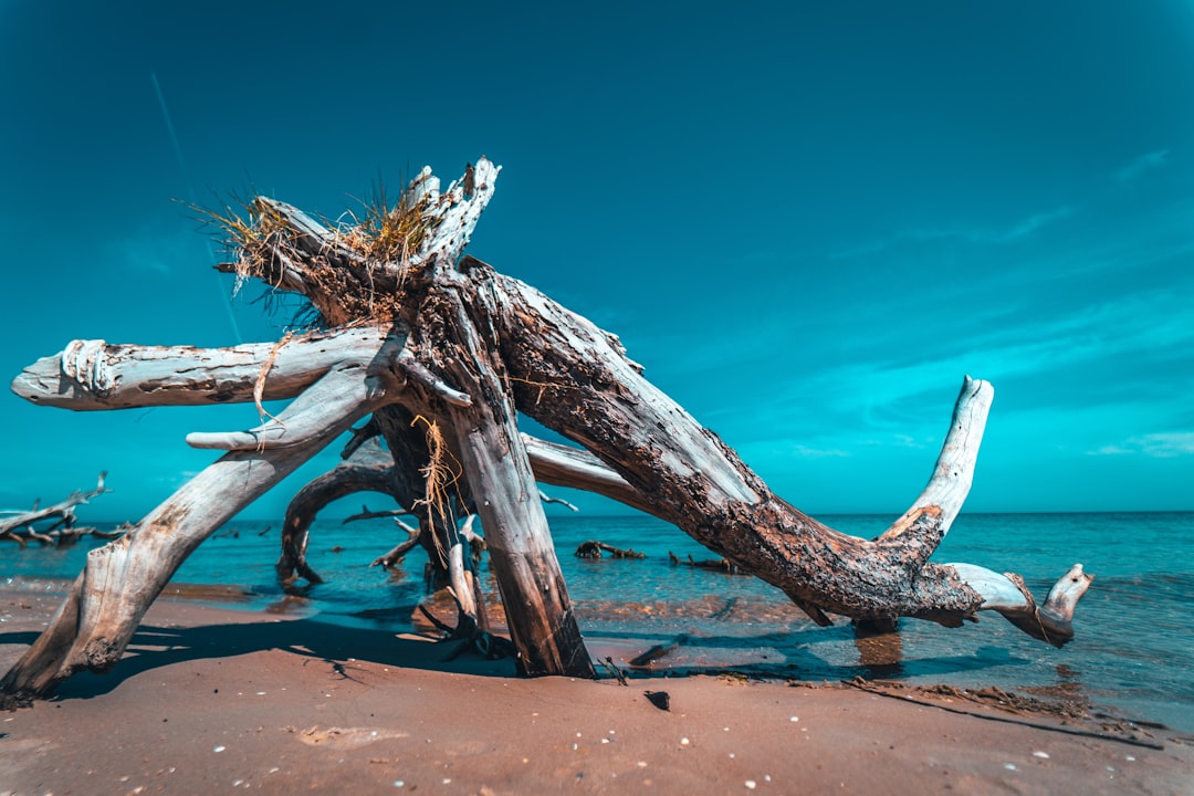
[[[0, 0], [5, 378], [73, 338], [277, 339], [192, 198], [334, 218], [484, 153], [469, 252], [795, 505], [903, 511], [971, 374], [970, 511], [1194, 508], [1194, 4], [241, 5]], [[0, 416], [0, 508], [107, 469], [84, 517], [119, 520], [257, 413]]]

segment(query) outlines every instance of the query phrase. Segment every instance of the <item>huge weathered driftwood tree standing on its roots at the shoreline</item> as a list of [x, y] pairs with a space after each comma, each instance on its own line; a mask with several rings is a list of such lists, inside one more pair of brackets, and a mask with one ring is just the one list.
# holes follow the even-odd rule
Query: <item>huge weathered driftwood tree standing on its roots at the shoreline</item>
[[[245, 220], [222, 216], [236, 255], [220, 267], [302, 294], [320, 331], [205, 350], [76, 340], [14, 380], [18, 395], [76, 411], [293, 401], [248, 431], [187, 437], [223, 455], [90, 554], [50, 627], [0, 681], [4, 693], [44, 697], [76, 671], [115, 665], [196, 545], [364, 418], [344, 467], [288, 513], [279, 570], [304, 566], [306, 527], [328, 495], [386, 492], [420, 518], [464, 634], [484, 631], [457, 524], [475, 512], [525, 674], [593, 675], [537, 482], [673, 523], [821, 624], [836, 613], [955, 627], [993, 610], [1053, 644], [1072, 636], [1073, 607], [1090, 582], [1081, 564], [1038, 606], [1016, 575], [929, 562], [970, 490], [990, 384], [964, 380], [933, 476], [903, 517], [870, 541], [835, 531], [773, 494], [644, 378], [615, 335], [462, 255], [498, 171], [481, 159], [441, 192], [424, 169], [396, 206], [382, 203], [352, 226], [328, 227], [265, 197]], [[521, 433], [518, 413], [576, 446]], [[377, 434], [387, 455], [370, 449], [369, 461], [356, 459]]]

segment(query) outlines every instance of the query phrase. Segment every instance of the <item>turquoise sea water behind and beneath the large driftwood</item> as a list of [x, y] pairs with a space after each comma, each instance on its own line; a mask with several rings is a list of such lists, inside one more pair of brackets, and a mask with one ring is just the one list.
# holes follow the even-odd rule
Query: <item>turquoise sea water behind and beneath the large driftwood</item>
[[[872, 537], [888, 517], [820, 518], [839, 530]], [[261, 609], [284, 596], [275, 580], [277, 529], [240, 522], [236, 536], [203, 543], [174, 582], [232, 586], [240, 604]], [[964, 514], [934, 556], [997, 572], [1017, 572], [1038, 598], [1075, 562], [1096, 575], [1064, 649], [1040, 643], [1004, 622], [947, 629], [905, 621], [898, 641], [860, 642], [844, 622], [817, 628], [775, 588], [753, 578], [676, 567], [682, 559], [713, 557], [676, 527], [640, 517], [564, 516], [552, 529], [581, 629], [593, 649], [626, 658], [688, 634], [669, 655], [684, 669], [732, 667], [806, 680], [856, 674], [959, 687], [1081, 692], [1133, 718], [1194, 729], [1194, 513]], [[223, 532], [223, 531], [222, 531]], [[221, 532], [221, 533], [222, 533]], [[307, 594], [306, 610], [358, 627], [411, 628], [424, 598], [423, 554], [387, 574], [368, 564], [405, 533], [388, 520], [316, 523], [308, 559], [327, 582]], [[634, 548], [645, 560], [590, 561], [577, 545], [598, 539]], [[74, 578], [90, 545], [64, 550], [0, 547], [0, 585]], [[494, 585], [490, 587], [496, 593]], [[602, 653], [604, 654], [604, 653]]]

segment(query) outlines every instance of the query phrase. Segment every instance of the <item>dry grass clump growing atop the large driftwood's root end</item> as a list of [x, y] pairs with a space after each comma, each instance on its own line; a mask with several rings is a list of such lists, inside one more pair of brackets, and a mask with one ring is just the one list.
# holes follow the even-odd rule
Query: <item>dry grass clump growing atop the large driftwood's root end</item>
[[376, 189], [346, 223], [316, 221], [267, 197], [199, 212], [232, 255], [216, 267], [236, 274], [236, 290], [256, 278], [275, 291], [300, 292], [318, 313], [314, 326], [384, 322], [400, 308], [419, 266], [416, 255], [438, 223], [427, 212], [431, 195], [419, 186], [412, 183], [393, 205]]

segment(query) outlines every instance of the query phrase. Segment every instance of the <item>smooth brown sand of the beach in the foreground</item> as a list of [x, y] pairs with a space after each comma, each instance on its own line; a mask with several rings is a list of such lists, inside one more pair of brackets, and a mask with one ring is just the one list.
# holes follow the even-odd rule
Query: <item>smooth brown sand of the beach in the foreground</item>
[[[0, 669], [56, 604], [4, 596]], [[1151, 730], [1151, 749], [947, 712], [1104, 732], [949, 696], [733, 677], [522, 680], [448, 652], [160, 600], [113, 672], [0, 714], [0, 794], [1194, 792], [1174, 732]]]

